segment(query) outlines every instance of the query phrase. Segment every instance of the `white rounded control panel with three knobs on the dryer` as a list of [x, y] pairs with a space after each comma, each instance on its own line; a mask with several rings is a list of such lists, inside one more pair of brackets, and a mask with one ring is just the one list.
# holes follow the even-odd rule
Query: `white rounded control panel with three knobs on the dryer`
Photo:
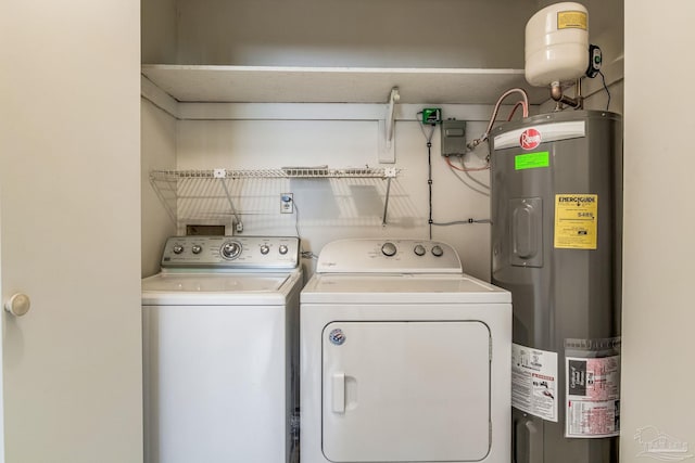
[[339, 240], [318, 256], [317, 273], [460, 273], [456, 249], [428, 240]]

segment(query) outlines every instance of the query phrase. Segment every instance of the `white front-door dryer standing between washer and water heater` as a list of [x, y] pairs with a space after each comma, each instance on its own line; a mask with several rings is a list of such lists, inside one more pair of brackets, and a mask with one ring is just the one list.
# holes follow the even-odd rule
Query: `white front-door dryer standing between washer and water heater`
[[330, 243], [300, 312], [302, 463], [509, 462], [511, 296], [451, 246]]

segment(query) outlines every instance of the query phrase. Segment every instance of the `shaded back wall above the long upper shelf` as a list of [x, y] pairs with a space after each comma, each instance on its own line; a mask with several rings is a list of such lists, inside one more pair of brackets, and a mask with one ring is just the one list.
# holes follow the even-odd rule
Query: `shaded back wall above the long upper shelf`
[[[535, 0], [179, 0], [178, 63], [522, 67]], [[494, 51], [494, 52], [491, 52]]]

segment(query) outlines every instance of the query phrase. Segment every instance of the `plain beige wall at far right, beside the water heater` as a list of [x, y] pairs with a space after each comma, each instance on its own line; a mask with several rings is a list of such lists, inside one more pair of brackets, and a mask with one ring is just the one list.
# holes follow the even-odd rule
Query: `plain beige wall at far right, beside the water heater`
[[695, 73], [693, 17], [690, 0], [626, 2], [623, 462], [654, 461], [647, 426], [695, 454], [693, 118], [673, 92]]

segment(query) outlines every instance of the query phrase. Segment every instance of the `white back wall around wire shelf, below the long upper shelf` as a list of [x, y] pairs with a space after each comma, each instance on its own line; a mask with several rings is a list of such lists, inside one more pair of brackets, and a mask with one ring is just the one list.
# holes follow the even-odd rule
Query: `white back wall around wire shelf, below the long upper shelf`
[[[204, 106], [204, 105], [203, 105]], [[273, 105], [271, 105], [273, 106]], [[276, 105], [280, 107], [280, 105]], [[396, 163], [377, 160], [377, 121], [334, 120], [333, 104], [324, 105], [326, 120], [180, 120], [177, 130], [179, 169], [280, 168], [285, 166], [389, 167], [401, 169], [393, 180], [382, 224], [387, 182], [380, 179], [239, 180], [231, 187], [241, 213], [244, 234], [290, 234], [303, 240], [304, 250], [318, 254], [329, 241], [344, 237], [428, 239], [429, 189], [427, 140], [416, 112], [427, 105], [404, 105], [395, 125]], [[502, 114], [510, 107], [503, 106]], [[271, 113], [271, 110], [268, 110]], [[485, 129], [491, 106], [446, 105], [445, 116], [467, 120], [470, 138]], [[280, 112], [278, 111], [278, 114]], [[429, 126], [426, 132], [429, 132]], [[433, 220], [489, 219], [489, 171], [454, 173], [444, 163], [440, 128], [432, 136]], [[485, 164], [486, 146], [465, 157], [467, 165]], [[458, 159], [453, 160], [458, 165]], [[193, 187], [199, 194], [205, 185]], [[282, 215], [280, 193], [293, 193], [299, 216]], [[205, 193], [210, 195], [210, 193]], [[216, 203], [179, 200], [179, 220], [186, 223], [225, 223], [231, 216], [222, 190]], [[222, 215], [222, 216], [220, 216]], [[184, 232], [184, 228], [179, 228]], [[459, 252], [467, 272], [489, 280], [489, 224], [432, 227], [432, 239]], [[305, 261], [312, 270], [311, 261]]]

